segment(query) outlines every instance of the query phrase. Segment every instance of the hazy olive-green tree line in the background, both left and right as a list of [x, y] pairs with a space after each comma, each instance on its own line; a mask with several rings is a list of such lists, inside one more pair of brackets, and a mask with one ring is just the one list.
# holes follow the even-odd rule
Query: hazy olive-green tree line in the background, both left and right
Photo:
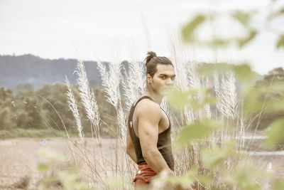
[[[259, 119], [253, 120], [250, 129], [263, 130], [274, 120], [284, 117], [283, 109], [277, 112], [266, 112], [265, 102], [278, 102], [284, 99], [281, 90], [269, 89], [272, 83], [284, 83], [283, 68], [271, 70], [264, 78], [256, 82], [255, 88], [267, 88], [268, 90], [259, 97], [263, 102], [263, 109]], [[80, 100], [77, 85], [72, 85], [72, 90], [77, 99], [84, 132], [91, 132], [89, 120], [87, 120], [84, 107]], [[116, 111], [107, 102], [102, 88], [93, 88], [101, 115], [102, 135], [114, 134], [116, 129]], [[18, 85], [15, 90], [0, 88], [0, 130], [21, 129], [47, 129], [76, 133], [75, 119], [67, 105], [66, 85], [63, 83], [45, 84], [38, 90], [34, 90], [31, 84]], [[251, 117], [255, 117], [252, 115]], [[63, 125], [64, 123], [64, 125]]]

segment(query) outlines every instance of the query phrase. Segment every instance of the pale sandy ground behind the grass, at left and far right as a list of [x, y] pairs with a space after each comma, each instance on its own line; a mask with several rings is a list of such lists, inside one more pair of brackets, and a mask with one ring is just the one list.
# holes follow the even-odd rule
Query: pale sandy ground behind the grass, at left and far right
[[[77, 146], [78, 139], [74, 139], [71, 143], [75, 149], [77, 158], [77, 165], [81, 169], [81, 173], [86, 168], [82, 162], [83, 152]], [[120, 144], [120, 143], [118, 143]], [[119, 152], [116, 152], [116, 139], [102, 139], [102, 148], [97, 146], [95, 139], [86, 139], [85, 146], [89, 149], [90, 163], [97, 163], [92, 167], [96, 168], [98, 174], [110, 174], [114, 171], [128, 171], [124, 174], [126, 180], [131, 183], [131, 178], [135, 174], [134, 165], [132, 168], [126, 169], [124, 149], [119, 146]], [[36, 184], [43, 177], [36, 169], [37, 164], [42, 160], [38, 157], [40, 149], [52, 149], [65, 157], [65, 166], [75, 166], [75, 161], [72, 159], [70, 151], [70, 143], [65, 139], [5, 139], [0, 140], [0, 189], [5, 188], [16, 181], [28, 176], [31, 181], [28, 189], [36, 189]], [[102, 150], [102, 152], [101, 152]], [[253, 162], [260, 167], [266, 167], [268, 162], [272, 164], [272, 170], [279, 177], [284, 179], [284, 156], [283, 155], [269, 155], [269, 156], [252, 156]], [[80, 161], [81, 160], [81, 161]], [[118, 161], [118, 162], [116, 162]], [[119, 163], [119, 164], [113, 164]], [[100, 173], [101, 172], [101, 173]], [[103, 179], [103, 177], [102, 177]]]

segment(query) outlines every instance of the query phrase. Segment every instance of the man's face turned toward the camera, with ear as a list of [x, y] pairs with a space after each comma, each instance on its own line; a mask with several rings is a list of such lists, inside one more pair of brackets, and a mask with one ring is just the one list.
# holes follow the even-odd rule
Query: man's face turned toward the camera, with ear
[[172, 65], [157, 65], [157, 72], [151, 78], [147, 74], [147, 82], [155, 93], [163, 95], [166, 90], [173, 88], [175, 82], [175, 69]]

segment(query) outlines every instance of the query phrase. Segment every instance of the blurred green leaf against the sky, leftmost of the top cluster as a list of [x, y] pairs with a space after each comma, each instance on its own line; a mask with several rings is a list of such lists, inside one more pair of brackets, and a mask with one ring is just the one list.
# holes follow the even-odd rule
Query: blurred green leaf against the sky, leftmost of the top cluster
[[206, 16], [200, 14], [195, 16], [191, 21], [185, 24], [185, 26], [182, 28], [182, 39], [187, 42], [192, 42], [193, 39], [193, 33], [195, 29], [200, 26], [202, 22], [206, 20]]

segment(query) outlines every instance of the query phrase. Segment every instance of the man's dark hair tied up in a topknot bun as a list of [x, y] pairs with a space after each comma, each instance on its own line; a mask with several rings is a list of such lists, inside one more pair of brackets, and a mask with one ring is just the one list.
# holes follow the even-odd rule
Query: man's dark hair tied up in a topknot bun
[[146, 73], [149, 73], [151, 77], [155, 75], [155, 72], [157, 72], [157, 65], [172, 65], [173, 63], [166, 57], [160, 57], [155, 54], [153, 51], [148, 51], [146, 60]]

